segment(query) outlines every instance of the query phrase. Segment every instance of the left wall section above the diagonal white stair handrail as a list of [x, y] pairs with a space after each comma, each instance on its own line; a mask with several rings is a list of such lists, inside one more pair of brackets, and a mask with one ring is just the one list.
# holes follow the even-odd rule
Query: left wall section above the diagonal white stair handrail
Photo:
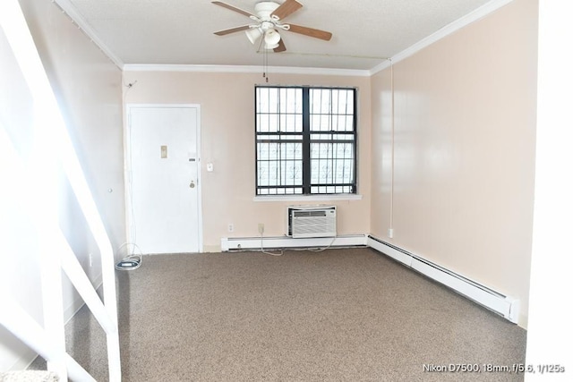
[[56, 4], [20, 3], [107, 234], [117, 247], [125, 241], [122, 72]]

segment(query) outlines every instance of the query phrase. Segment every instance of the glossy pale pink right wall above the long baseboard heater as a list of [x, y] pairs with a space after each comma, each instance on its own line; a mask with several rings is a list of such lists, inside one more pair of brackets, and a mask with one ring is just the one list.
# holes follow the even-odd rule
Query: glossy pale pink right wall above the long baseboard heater
[[[537, 2], [516, 0], [372, 78], [372, 234], [522, 303], [535, 180]], [[394, 238], [387, 237], [393, 219]]]

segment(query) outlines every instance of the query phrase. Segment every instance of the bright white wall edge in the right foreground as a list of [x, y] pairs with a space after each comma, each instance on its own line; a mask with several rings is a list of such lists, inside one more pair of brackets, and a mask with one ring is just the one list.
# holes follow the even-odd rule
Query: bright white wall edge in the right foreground
[[[572, 13], [569, 0], [539, 2], [534, 238], [526, 352], [526, 363], [536, 373], [526, 374], [526, 381], [569, 381], [573, 373], [573, 54], [568, 48]], [[542, 374], [540, 365], [559, 367]]]

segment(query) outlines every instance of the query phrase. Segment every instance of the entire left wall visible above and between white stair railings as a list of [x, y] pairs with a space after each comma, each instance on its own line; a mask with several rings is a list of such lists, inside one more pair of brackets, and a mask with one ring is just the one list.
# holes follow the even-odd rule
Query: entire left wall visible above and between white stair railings
[[[125, 241], [121, 71], [55, 4], [47, 0], [21, 0], [20, 3], [107, 233], [117, 248]], [[34, 106], [4, 32], [0, 32], [0, 65], [2, 128], [24, 162], [33, 166], [30, 158], [34, 150], [31, 134]], [[10, 169], [4, 164], [0, 168], [3, 172]], [[99, 284], [98, 248], [63, 173], [57, 174], [55, 181], [60, 227], [92, 283]], [[10, 291], [42, 324], [37, 233], [30, 218], [14, 200], [13, 192], [18, 190], [6, 186], [3, 183], [0, 191], [0, 286]], [[41, 187], [42, 184], [38, 184], [38, 189]], [[108, 192], [109, 189], [113, 191]], [[80, 306], [78, 299], [72, 285], [64, 279], [67, 318]], [[32, 361], [33, 353], [4, 328], [0, 328], [0, 341], [0, 371], [21, 369]]]

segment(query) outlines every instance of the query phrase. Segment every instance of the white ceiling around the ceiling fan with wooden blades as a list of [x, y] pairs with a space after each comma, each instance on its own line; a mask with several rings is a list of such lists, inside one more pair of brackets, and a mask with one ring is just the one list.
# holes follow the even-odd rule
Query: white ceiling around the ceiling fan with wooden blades
[[[225, 0], [254, 13], [259, 0]], [[282, 3], [283, 0], [276, 0]], [[495, 0], [298, 0], [284, 22], [332, 32], [330, 41], [281, 32], [286, 52], [270, 66], [370, 71], [423, 38]], [[56, 0], [120, 64], [261, 65], [244, 32], [252, 23], [210, 0]]]

